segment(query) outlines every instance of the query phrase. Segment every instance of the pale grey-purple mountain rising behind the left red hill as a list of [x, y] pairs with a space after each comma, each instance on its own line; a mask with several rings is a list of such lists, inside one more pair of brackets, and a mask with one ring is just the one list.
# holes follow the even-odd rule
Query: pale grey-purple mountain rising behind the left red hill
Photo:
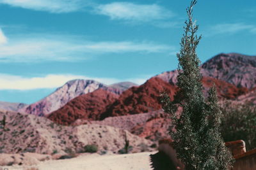
[[71, 80], [44, 99], [21, 108], [18, 111], [32, 115], [45, 116], [52, 111], [58, 110], [75, 97], [93, 92], [100, 88], [120, 93], [120, 90], [108, 87], [94, 80]]

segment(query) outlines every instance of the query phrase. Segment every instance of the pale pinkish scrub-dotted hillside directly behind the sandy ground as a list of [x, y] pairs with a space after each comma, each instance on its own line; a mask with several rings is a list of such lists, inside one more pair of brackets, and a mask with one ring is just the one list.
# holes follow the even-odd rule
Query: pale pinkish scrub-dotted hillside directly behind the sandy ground
[[[6, 115], [6, 125], [0, 125], [1, 153], [72, 153], [84, 152], [85, 145], [97, 145], [98, 152], [117, 153], [124, 148], [125, 135], [131, 152], [141, 152], [153, 143], [124, 129], [108, 125], [79, 125], [67, 127], [35, 115], [0, 111], [0, 120]], [[141, 148], [144, 147], [144, 148]]]

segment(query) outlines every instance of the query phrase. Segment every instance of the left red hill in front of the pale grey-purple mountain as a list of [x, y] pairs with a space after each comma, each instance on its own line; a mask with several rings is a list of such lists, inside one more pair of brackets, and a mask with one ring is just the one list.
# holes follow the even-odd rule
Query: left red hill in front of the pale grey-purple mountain
[[78, 96], [65, 106], [49, 114], [47, 118], [61, 125], [70, 125], [77, 119], [97, 120], [106, 106], [113, 103], [118, 95], [103, 89]]

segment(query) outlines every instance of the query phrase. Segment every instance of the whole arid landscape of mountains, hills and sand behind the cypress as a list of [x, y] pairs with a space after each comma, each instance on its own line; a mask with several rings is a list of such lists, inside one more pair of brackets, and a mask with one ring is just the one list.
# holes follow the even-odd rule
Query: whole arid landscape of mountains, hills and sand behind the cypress
[[[202, 64], [201, 73], [205, 96], [215, 84], [220, 101], [255, 104], [256, 57], [221, 53]], [[0, 103], [0, 167], [150, 169], [149, 155], [172, 125], [159, 94], [175, 100], [176, 83], [176, 70], [140, 86], [72, 80], [33, 104]], [[96, 153], [86, 145], [97, 146]], [[125, 145], [129, 154], [120, 155]]]

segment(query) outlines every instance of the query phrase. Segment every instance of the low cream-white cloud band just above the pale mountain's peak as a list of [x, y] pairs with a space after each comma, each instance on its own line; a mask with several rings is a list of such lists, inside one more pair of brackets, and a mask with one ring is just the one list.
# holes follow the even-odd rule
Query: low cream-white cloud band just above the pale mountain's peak
[[96, 80], [100, 83], [111, 85], [113, 83], [118, 83], [121, 81], [132, 81], [134, 83], [141, 84], [147, 80], [147, 77], [118, 80], [116, 78], [97, 78], [73, 74], [49, 74], [46, 76], [28, 78], [12, 74], [0, 73], [0, 90], [54, 89], [57, 87], [61, 87], [67, 81], [74, 79]]

